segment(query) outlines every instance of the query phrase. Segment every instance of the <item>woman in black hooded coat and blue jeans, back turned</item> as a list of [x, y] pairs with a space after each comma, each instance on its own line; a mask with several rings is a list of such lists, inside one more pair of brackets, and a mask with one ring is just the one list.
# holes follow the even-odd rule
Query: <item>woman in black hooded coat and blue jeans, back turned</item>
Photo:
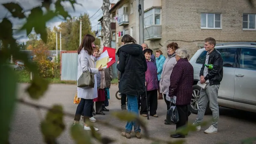
[[[130, 35], [124, 35], [117, 55], [117, 69], [120, 71], [119, 92], [127, 96], [127, 109], [139, 116], [137, 97], [145, 92], [145, 72], [147, 63], [142, 47]], [[130, 139], [132, 126], [138, 139], [141, 138], [140, 125], [137, 122], [127, 122], [122, 136]]]

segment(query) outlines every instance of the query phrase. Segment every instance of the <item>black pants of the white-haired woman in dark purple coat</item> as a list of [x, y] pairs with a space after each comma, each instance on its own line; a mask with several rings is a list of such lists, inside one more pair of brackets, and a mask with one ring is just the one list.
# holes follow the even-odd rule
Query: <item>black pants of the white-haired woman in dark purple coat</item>
[[176, 124], [176, 130], [188, 123], [188, 105], [176, 105], [179, 113], [179, 122]]

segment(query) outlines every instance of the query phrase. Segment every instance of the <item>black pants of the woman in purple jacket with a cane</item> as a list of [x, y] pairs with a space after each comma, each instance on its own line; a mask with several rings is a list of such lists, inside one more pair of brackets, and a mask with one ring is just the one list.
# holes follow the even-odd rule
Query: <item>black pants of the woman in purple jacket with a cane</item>
[[[156, 115], [157, 110], [157, 90], [147, 91], [148, 106], [150, 107], [150, 116]], [[140, 114], [147, 114], [147, 100], [146, 94], [141, 95], [141, 109]]]

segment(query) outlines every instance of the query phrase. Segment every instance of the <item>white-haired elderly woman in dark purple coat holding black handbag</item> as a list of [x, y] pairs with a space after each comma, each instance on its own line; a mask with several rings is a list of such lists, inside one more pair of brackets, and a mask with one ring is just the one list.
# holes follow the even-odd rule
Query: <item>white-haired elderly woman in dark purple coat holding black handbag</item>
[[[176, 130], [188, 123], [188, 105], [191, 102], [194, 81], [194, 69], [188, 62], [189, 54], [185, 49], [176, 50], [176, 65], [170, 77], [169, 97], [176, 96], [176, 107], [179, 113], [179, 122]], [[172, 134], [173, 138], [185, 138], [180, 133]]]

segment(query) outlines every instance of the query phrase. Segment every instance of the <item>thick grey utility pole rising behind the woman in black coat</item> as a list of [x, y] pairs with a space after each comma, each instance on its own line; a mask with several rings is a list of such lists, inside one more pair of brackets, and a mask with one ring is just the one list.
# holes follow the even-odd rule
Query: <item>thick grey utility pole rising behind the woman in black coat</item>
[[140, 44], [144, 43], [144, 0], [139, 1], [139, 16], [140, 16]]

